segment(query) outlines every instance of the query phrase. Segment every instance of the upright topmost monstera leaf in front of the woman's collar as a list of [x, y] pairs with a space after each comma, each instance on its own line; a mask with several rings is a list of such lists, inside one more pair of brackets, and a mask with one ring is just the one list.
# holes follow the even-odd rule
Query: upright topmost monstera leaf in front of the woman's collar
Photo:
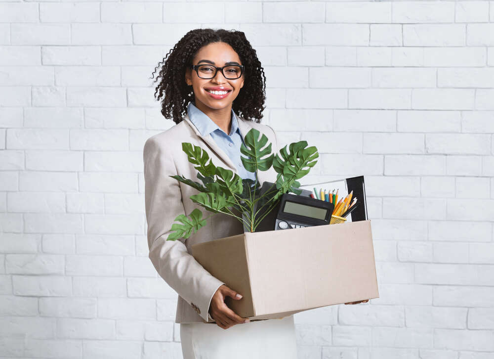
[[[267, 171], [273, 164], [274, 154], [271, 153], [271, 143], [266, 146], [268, 137], [261, 135], [260, 132], [252, 129], [244, 137], [245, 145], [242, 144], [240, 152], [247, 156], [242, 157], [242, 163], [249, 172]], [[267, 156], [267, 157], [266, 157]]]

